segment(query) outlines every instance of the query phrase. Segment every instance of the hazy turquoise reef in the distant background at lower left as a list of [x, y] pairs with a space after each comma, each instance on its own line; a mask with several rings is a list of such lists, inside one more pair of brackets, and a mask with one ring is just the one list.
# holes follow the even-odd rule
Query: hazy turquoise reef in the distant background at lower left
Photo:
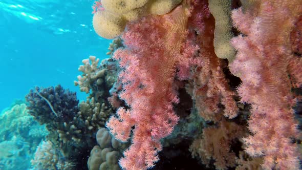
[[17, 102], [0, 115], [0, 169], [29, 169], [35, 148], [48, 134], [28, 113], [24, 102]]

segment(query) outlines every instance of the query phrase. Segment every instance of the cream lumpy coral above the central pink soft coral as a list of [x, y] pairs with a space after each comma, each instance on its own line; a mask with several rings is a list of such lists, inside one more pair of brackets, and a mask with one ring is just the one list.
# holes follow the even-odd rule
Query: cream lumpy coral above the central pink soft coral
[[127, 22], [146, 15], [162, 15], [174, 9], [181, 0], [102, 0], [103, 11], [92, 20], [95, 32], [107, 39], [120, 35]]

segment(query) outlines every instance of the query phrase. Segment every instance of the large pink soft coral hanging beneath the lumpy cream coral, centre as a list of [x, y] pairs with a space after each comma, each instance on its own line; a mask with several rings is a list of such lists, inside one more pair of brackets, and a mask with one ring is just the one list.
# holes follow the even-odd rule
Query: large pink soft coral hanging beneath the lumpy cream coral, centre
[[180, 6], [169, 14], [128, 24], [122, 35], [126, 48], [114, 53], [122, 68], [119, 96], [129, 109], [120, 108], [106, 126], [121, 141], [127, 141], [134, 128], [132, 144], [120, 159], [124, 169], [153, 167], [162, 150], [160, 139], [169, 135], [179, 120], [173, 110], [173, 103], [179, 102], [174, 78], [178, 63], [188, 59], [181, 54], [187, 18]]

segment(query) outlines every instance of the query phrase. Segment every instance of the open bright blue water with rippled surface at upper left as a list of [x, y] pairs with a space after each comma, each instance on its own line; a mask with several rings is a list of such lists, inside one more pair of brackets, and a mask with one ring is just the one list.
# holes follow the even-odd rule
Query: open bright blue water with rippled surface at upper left
[[34, 86], [74, 87], [81, 60], [106, 58], [110, 40], [92, 27], [93, 1], [0, 1], [0, 111]]

